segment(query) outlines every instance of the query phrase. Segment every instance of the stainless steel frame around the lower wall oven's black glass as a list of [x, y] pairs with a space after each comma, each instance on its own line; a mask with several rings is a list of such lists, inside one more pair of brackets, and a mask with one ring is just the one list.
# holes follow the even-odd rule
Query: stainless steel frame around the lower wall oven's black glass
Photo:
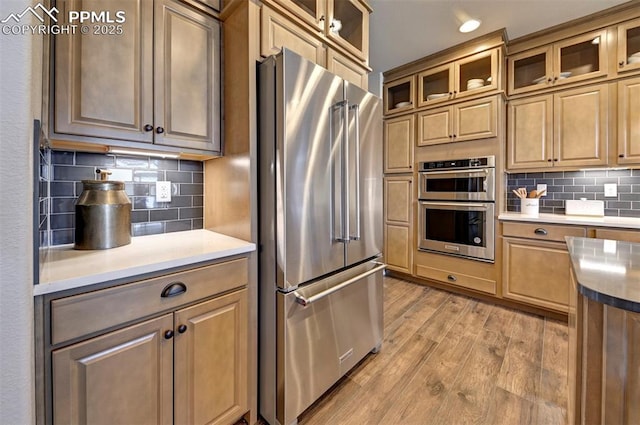
[[[476, 247], [464, 244], [428, 240], [424, 237], [424, 208], [447, 209], [458, 211], [485, 211], [485, 235], [487, 235], [486, 247]], [[495, 261], [495, 204], [491, 202], [418, 202], [418, 249], [439, 254], [466, 257], [481, 261]]]

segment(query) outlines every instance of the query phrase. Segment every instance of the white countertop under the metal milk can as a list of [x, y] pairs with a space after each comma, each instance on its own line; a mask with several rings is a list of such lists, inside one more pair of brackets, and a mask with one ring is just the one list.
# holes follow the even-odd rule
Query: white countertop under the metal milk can
[[34, 286], [33, 294], [134, 277], [255, 249], [254, 243], [206, 229], [134, 237], [129, 245], [103, 250], [55, 246], [44, 253], [40, 283]]

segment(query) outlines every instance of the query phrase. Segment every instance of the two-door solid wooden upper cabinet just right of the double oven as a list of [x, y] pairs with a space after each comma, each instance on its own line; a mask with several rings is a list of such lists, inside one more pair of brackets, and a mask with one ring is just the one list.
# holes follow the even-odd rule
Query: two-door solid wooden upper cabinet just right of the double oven
[[606, 84], [512, 100], [507, 114], [507, 168], [607, 164]]

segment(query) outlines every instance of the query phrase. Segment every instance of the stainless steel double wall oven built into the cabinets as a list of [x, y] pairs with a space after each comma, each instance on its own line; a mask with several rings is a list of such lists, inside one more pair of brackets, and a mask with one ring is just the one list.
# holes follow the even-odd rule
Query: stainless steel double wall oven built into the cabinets
[[495, 259], [495, 157], [421, 162], [418, 249]]

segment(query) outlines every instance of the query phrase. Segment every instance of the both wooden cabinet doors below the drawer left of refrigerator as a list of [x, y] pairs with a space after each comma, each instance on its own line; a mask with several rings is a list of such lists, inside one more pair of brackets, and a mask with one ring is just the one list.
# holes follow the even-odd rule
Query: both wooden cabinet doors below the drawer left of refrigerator
[[54, 350], [55, 424], [230, 424], [248, 411], [247, 290]]

